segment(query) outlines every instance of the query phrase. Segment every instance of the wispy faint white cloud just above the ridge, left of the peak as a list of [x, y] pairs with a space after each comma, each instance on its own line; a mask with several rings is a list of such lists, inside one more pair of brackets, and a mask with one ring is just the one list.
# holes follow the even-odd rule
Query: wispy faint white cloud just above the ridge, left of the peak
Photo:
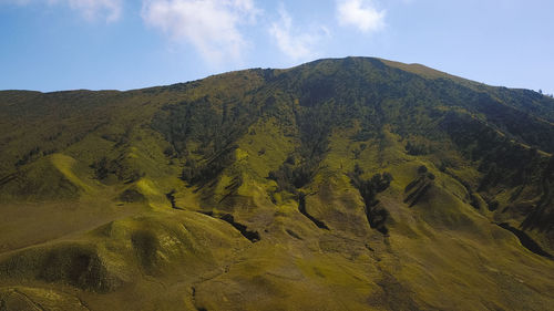
[[[293, 32], [293, 19], [284, 6], [279, 8], [279, 14], [280, 20], [271, 23], [269, 28], [269, 33], [277, 41], [279, 50], [293, 60], [314, 58], [315, 45], [322, 35], [316, 31]], [[320, 27], [319, 29], [326, 35], [329, 34], [326, 28]]]

